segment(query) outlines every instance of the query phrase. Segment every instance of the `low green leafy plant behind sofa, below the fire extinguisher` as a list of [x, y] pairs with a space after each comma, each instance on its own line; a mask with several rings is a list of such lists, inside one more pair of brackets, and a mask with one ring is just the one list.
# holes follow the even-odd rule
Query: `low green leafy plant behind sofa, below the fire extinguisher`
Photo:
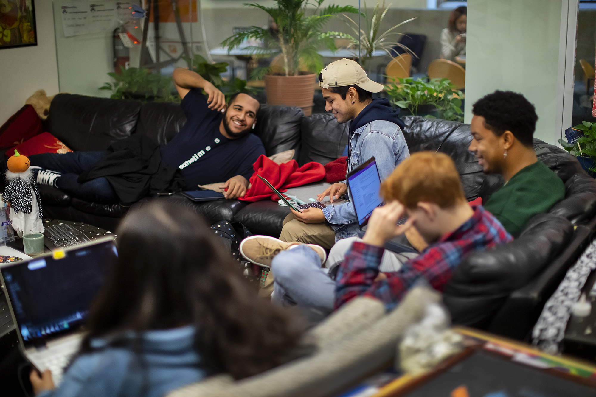
[[120, 66], [122, 74], [110, 72], [115, 81], [104, 83], [100, 89], [110, 90], [113, 99], [134, 99], [154, 102], [180, 102], [178, 94], [172, 94], [172, 78], [157, 75], [142, 67]]

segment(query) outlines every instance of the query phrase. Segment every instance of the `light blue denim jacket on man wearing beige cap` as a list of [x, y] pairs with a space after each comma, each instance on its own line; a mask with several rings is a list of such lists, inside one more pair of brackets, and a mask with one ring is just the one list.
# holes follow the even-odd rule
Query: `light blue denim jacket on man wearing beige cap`
[[[381, 181], [409, 157], [408, 145], [401, 128], [386, 120], [375, 120], [357, 129], [350, 137], [350, 153], [347, 172], [374, 156]], [[349, 190], [348, 198], [347, 203], [330, 205], [323, 209], [325, 219], [336, 232], [336, 241], [358, 234], [358, 219]]]

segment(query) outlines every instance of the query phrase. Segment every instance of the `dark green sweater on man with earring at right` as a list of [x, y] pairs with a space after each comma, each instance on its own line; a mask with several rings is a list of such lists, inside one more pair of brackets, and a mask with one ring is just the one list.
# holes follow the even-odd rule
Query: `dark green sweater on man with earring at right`
[[486, 201], [485, 209], [517, 238], [534, 215], [548, 212], [564, 197], [565, 185], [561, 178], [538, 161], [519, 170], [495, 191]]

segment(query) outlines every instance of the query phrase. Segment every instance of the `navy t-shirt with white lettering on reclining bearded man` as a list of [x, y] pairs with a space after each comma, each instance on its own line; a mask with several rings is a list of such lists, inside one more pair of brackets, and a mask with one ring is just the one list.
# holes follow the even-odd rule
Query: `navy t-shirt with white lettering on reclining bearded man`
[[180, 104], [187, 122], [178, 135], [163, 146], [162, 159], [182, 170], [187, 189], [225, 182], [232, 176], [253, 175], [253, 163], [265, 147], [259, 137], [248, 134], [228, 139], [219, 132], [224, 113], [207, 107], [199, 88], [191, 89]]

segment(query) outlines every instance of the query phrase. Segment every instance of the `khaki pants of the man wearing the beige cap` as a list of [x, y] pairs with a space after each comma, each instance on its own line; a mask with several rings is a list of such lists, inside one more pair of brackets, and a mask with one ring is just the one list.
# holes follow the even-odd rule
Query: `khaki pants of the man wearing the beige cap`
[[[326, 223], [305, 224], [294, 218], [293, 213], [288, 213], [281, 229], [280, 240], [287, 243], [300, 241], [304, 244], [317, 244], [325, 249], [331, 249], [335, 244], [335, 232]], [[270, 271], [265, 279], [265, 285], [259, 290], [259, 296], [269, 297], [273, 292], [274, 276]]]

